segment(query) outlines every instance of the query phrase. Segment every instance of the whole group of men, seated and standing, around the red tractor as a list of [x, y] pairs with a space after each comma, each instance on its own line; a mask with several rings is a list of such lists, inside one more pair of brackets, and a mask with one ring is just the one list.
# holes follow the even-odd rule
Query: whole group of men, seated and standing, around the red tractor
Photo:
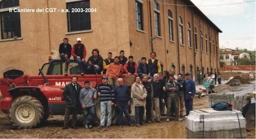
[[[63, 39], [61, 48], [67, 48], [68, 39]], [[65, 47], [66, 43], [66, 47]], [[71, 46], [70, 46], [71, 47]], [[78, 50], [80, 49], [80, 51]], [[81, 50], [82, 49], [82, 50]], [[79, 53], [78, 53], [79, 51]], [[83, 55], [81, 55], [83, 53]], [[102, 84], [97, 89], [90, 87], [90, 82], [85, 81], [84, 88], [77, 84], [77, 77], [72, 78], [72, 82], [67, 84], [63, 90], [63, 97], [66, 100], [66, 112], [64, 127], [68, 127], [68, 120], [70, 112], [72, 112], [72, 128], [76, 128], [77, 107], [81, 105], [82, 113], [84, 115], [85, 128], [92, 128], [92, 119], [95, 115], [95, 106], [93, 99], [99, 97], [101, 107], [101, 120], [98, 128], [105, 127], [106, 110], [108, 112], [106, 127], [111, 125], [111, 106], [117, 109], [117, 125], [122, 126], [123, 113], [125, 114], [127, 123], [134, 126], [131, 121], [129, 106], [131, 104], [131, 96], [133, 106], [135, 107], [135, 121], [136, 126], [143, 125], [143, 116], [146, 108], [146, 122], [147, 123], [161, 123], [161, 113], [167, 108], [166, 121], [170, 121], [171, 117], [175, 120], [181, 121], [183, 117], [183, 107], [185, 103], [186, 115], [193, 110], [193, 98], [195, 95], [195, 82], [190, 79], [190, 74], [185, 74], [183, 79], [182, 74], [175, 75], [174, 68], [163, 72], [163, 76], [159, 76], [162, 68], [159, 60], [156, 59], [156, 53], [150, 53], [150, 59], [146, 57], [141, 58], [141, 62], [137, 65], [133, 61], [133, 56], [126, 58], [124, 51], [121, 50], [119, 56], [114, 59], [111, 58], [112, 53], [108, 53], [108, 58], [102, 59], [99, 55], [98, 49], [92, 50], [92, 56], [89, 57], [85, 63], [86, 50], [81, 44], [81, 38], [77, 38], [77, 44], [71, 49], [71, 55], [81, 67], [84, 72], [97, 72], [100, 74], [103, 70]], [[60, 57], [63, 60], [70, 58], [69, 54], [63, 53], [60, 50]], [[80, 62], [80, 64], [79, 64]], [[97, 66], [95, 66], [97, 65]], [[67, 66], [66, 66], [67, 67]], [[85, 68], [84, 68], [85, 67]], [[67, 73], [65, 69], [65, 73]], [[84, 73], [81, 73], [84, 74]], [[131, 88], [124, 85], [123, 79], [120, 78], [122, 74], [134, 75], [135, 82]], [[163, 103], [164, 102], [164, 103]], [[154, 115], [154, 111], [155, 115]]]

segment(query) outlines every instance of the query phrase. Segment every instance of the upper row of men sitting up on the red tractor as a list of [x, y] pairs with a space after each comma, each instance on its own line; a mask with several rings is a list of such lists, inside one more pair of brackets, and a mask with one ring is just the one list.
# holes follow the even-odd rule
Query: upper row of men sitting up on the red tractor
[[[119, 56], [116, 56], [114, 59], [112, 58], [111, 52], [108, 53], [108, 57], [106, 59], [103, 59], [102, 56], [99, 54], [99, 49], [95, 48], [92, 50], [92, 56], [90, 56], [86, 62], [85, 45], [81, 43], [81, 38], [77, 38], [76, 40], [77, 44], [71, 47], [71, 45], [68, 44], [68, 38], [64, 38], [63, 42], [59, 46], [60, 58], [66, 63], [65, 75], [68, 75], [68, 63], [71, 55], [74, 57], [74, 60], [78, 63], [81, 75], [95, 73], [101, 74], [102, 72], [103, 74], [110, 74], [111, 77], [117, 79], [117, 77], [123, 73], [126, 73], [128, 75], [140, 76], [151, 75], [151, 77], [153, 77], [155, 73], [161, 73], [161, 65], [160, 62], [155, 58], [156, 53], [154, 52], [151, 53], [151, 59], [149, 60], [147, 60], [146, 57], [142, 57], [141, 63], [138, 65], [136, 62], [133, 61], [133, 56], [129, 56], [128, 58], [124, 56], [124, 50], [121, 50]], [[118, 62], [116, 58], [118, 58]], [[114, 64], [110, 65], [111, 63]], [[151, 67], [147, 66], [146, 63], [149, 64]], [[121, 64], [122, 67], [119, 66], [119, 64]], [[121, 71], [119, 69], [121, 69]], [[121, 73], [113, 75], [113, 72], [116, 73], [117, 71], [120, 71]], [[116, 80], [112, 83], [115, 82]]]

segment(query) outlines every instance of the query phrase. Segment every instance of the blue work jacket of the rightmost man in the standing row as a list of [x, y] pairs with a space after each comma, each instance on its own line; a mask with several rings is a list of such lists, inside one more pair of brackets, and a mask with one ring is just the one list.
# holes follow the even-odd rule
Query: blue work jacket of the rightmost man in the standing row
[[196, 94], [196, 85], [195, 82], [191, 79], [186, 81], [186, 91], [185, 91], [185, 99], [191, 99]]

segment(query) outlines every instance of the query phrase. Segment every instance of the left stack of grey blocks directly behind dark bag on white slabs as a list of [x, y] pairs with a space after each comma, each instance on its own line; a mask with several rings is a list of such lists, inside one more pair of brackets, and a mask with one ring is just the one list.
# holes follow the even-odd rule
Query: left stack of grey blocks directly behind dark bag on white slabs
[[233, 93], [232, 94], [211, 93], [209, 94], [209, 98], [208, 98], [209, 108], [212, 108], [212, 105], [218, 102], [227, 102], [234, 106], [234, 100], [235, 100], [235, 96]]

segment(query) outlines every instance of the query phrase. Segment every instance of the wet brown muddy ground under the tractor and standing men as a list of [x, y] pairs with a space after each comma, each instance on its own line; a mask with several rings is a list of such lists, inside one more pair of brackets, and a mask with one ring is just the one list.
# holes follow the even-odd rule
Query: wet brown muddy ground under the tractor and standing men
[[[219, 88], [225, 89], [226, 85]], [[254, 89], [255, 90], [255, 89]], [[194, 110], [208, 108], [208, 97], [194, 99]], [[134, 111], [132, 111], [134, 119]], [[33, 129], [15, 129], [6, 114], [0, 111], [0, 138], [185, 138], [185, 121], [171, 120], [145, 124], [142, 127], [111, 126], [109, 128], [85, 129], [82, 117], [78, 117], [78, 129], [62, 130], [63, 116], [50, 116], [47, 125]], [[246, 138], [255, 138], [255, 129], [246, 132]]]

